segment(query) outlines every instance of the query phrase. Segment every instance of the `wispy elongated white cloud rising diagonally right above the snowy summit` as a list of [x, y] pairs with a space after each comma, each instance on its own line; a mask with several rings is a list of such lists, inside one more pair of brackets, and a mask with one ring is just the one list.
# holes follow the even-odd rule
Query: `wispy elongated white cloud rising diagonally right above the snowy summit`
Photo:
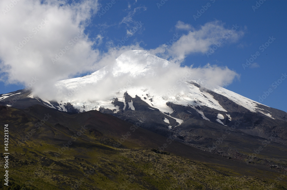
[[226, 29], [220, 21], [213, 21], [205, 23], [199, 29], [192, 29], [171, 46], [164, 44], [151, 52], [172, 62], [181, 63], [191, 53], [205, 53], [220, 40], [224, 43], [234, 43], [243, 34], [244, 32], [238, 28]]

